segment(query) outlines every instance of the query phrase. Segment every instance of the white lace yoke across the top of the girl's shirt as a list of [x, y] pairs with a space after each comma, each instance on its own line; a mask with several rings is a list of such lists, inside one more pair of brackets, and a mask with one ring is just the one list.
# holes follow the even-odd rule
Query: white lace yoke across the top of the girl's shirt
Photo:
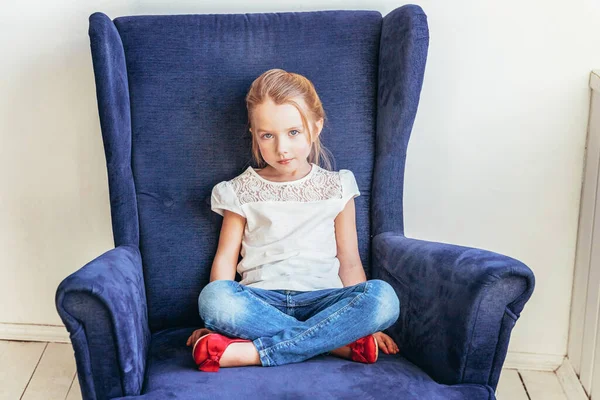
[[271, 184], [256, 177], [247, 169], [230, 182], [241, 204], [258, 201], [319, 201], [342, 198], [342, 182], [339, 172], [317, 167], [302, 182], [277, 182]]

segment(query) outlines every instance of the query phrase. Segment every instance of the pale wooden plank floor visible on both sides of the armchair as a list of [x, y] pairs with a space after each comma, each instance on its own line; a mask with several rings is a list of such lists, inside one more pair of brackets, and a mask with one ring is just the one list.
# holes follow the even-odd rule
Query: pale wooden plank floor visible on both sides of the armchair
[[[81, 399], [71, 344], [0, 341], [0, 399]], [[504, 369], [499, 400], [567, 400], [553, 372]]]

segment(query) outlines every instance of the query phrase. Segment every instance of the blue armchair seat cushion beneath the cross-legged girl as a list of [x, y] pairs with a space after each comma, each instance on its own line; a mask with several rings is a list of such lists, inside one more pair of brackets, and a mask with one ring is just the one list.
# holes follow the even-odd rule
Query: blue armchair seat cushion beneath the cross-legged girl
[[199, 371], [186, 340], [194, 328], [152, 336], [140, 396], [120, 399], [468, 399], [494, 400], [494, 391], [476, 384], [441, 385], [400, 352], [379, 352], [375, 364], [319, 355], [276, 367], [247, 366]]

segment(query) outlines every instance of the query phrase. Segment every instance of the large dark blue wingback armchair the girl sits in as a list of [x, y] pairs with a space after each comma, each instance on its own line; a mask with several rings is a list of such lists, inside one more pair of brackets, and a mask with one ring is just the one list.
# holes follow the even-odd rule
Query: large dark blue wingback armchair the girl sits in
[[[532, 271], [404, 236], [406, 150], [429, 43], [415, 5], [377, 11], [90, 16], [115, 248], [66, 277], [56, 307], [84, 399], [494, 399]], [[390, 283], [400, 352], [196, 369], [222, 217], [212, 187], [251, 165], [244, 96], [270, 68], [315, 84], [335, 169], [354, 172], [368, 279]], [[239, 280], [239, 275], [236, 280]]]

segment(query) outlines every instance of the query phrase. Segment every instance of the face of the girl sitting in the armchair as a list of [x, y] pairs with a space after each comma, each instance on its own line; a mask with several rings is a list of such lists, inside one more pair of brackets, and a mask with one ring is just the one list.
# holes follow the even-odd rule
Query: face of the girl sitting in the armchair
[[[302, 98], [293, 100], [306, 109]], [[255, 108], [252, 117], [251, 131], [267, 164], [282, 175], [306, 171], [311, 143], [296, 107], [291, 104], [277, 105], [268, 99]], [[323, 120], [320, 119], [315, 125], [314, 137], [321, 133]], [[282, 160], [290, 161], [281, 163]]]

